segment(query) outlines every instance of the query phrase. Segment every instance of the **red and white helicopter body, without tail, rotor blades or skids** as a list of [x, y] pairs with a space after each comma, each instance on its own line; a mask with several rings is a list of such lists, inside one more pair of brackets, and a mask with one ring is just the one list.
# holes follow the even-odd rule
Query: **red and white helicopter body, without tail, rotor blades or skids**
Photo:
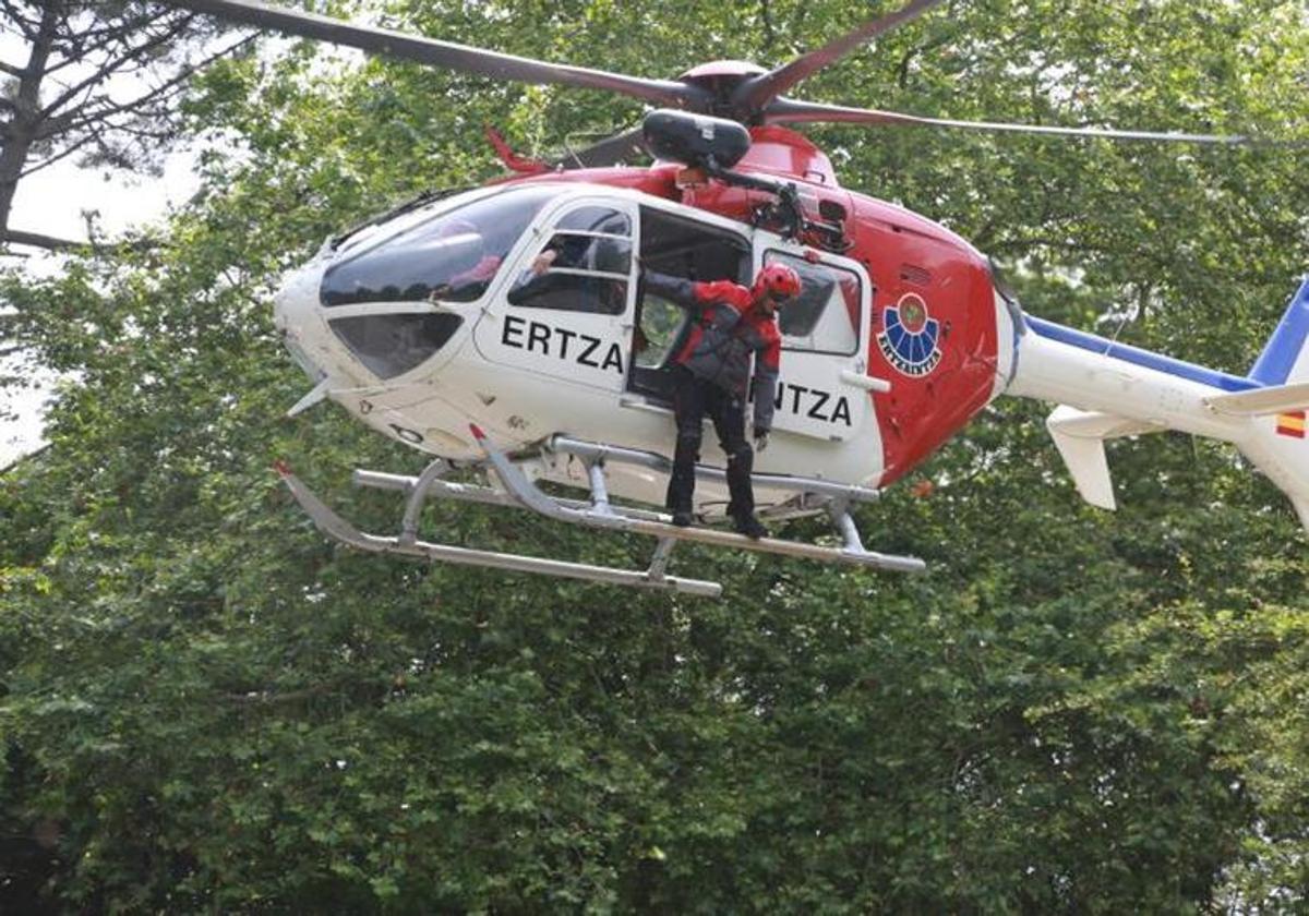
[[[839, 221], [844, 250], [755, 225], [767, 194], [675, 164], [546, 173], [329, 243], [288, 277], [278, 325], [327, 396], [433, 455], [476, 458], [470, 424], [509, 451], [568, 434], [669, 454], [687, 315], [645, 293], [643, 267], [749, 283], [780, 259], [805, 293], [781, 315], [775, 434], [755, 470], [885, 485], [1003, 391], [1021, 317], [958, 236], [846, 191], [798, 133], [751, 133], [738, 167], [795, 182], [806, 213]], [[535, 270], [547, 250], [563, 256]], [[721, 466], [711, 438], [704, 462]], [[535, 472], [586, 484], [567, 455]], [[666, 478], [649, 468], [609, 478], [615, 495], [662, 501]], [[712, 485], [700, 499], [709, 514], [725, 500]]]

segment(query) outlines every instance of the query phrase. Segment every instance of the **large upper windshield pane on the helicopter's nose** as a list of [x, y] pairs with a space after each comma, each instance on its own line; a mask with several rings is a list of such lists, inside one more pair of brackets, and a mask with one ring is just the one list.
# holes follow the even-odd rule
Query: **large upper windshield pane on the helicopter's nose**
[[[363, 302], [473, 302], [491, 285], [509, 249], [554, 187], [525, 187], [474, 200], [327, 268], [319, 291], [326, 306]], [[412, 217], [401, 217], [410, 220]]]

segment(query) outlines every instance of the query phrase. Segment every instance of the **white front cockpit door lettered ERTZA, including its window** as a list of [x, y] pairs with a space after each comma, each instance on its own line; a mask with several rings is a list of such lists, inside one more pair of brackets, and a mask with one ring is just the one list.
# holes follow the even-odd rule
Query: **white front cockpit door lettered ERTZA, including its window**
[[635, 204], [572, 198], [548, 212], [474, 340], [490, 361], [619, 393], [636, 288]]

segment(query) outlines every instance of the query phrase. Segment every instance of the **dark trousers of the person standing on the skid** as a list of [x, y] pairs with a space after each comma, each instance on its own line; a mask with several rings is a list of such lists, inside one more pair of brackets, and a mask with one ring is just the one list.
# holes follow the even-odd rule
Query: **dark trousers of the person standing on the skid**
[[673, 390], [673, 414], [677, 419], [677, 450], [673, 453], [673, 476], [668, 482], [668, 508], [691, 512], [695, 493], [695, 465], [700, 461], [704, 415], [713, 420], [719, 444], [728, 457], [728, 492], [732, 501], [728, 514], [737, 517], [754, 512], [750, 470], [754, 449], [745, 438], [745, 402], [713, 382], [696, 378], [678, 366]]

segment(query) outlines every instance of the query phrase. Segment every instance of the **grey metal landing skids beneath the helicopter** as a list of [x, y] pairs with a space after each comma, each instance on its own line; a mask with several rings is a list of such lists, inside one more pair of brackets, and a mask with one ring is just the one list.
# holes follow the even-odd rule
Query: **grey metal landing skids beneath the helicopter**
[[[850, 516], [848, 504], [856, 500], [874, 499], [876, 491], [843, 487], [809, 478], [768, 478], [770, 487], [776, 488], [780, 485], [804, 493], [806, 499], [816, 497], [823, 500], [833, 523], [842, 535], [844, 546], [821, 547], [818, 544], [779, 538], [751, 540], [741, 534], [709, 527], [677, 527], [670, 523], [669, 516], [664, 513], [617, 506], [609, 501], [603, 470], [606, 461], [626, 461], [661, 467], [668, 463], [668, 459], [660, 455], [556, 437], [548, 444], [548, 448], [554, 451], [565, 451], [581, 457], [586, 462], [589, 472], [590, 500], [565, 500], [543, 493], [528, 479], [528, 475], [514, 461], [503, 451], [492, 448], [480, 431], [474, 428], [474, 433], [476, 434], [478, 444], [486, 453], [486, 459], [475, 467], [487, 475], [488, 482], [497, 483], [499, 485], [483, 487], [444, 480], [442, 476], [453, 468], [440, 458], [428, 465], [423, 474], [416, 478], [380, 474], [376, 471], [355, 471], [353, 479], [357, 485], [394, 489], [406, 495], [401, 533], [391, 538], [361, 533], [319, 500], [285, 465], [279, 463], [278, 472], [287, 483], [287, 487], [289, 487], [296, 501], [300, 502], [301, 508], [323, 534], [350, 547], [376, 554], [399, 554], [462, 565], [560, 576], [564, 578], [658, 589], [708, 598], [716, 598], [723, 594], [723, 586], [719, 582], [668, 574], [668, 561], [678, 542], [690, 540], [713, 547], [749, 550], [759, 554], [778, 554], [781, 556], [821, 560], [823, 563], [843, 563], [847, 565], [897, 572], [923, 572], [927, 568], [916, 557], [893, 556], [864, 550], [859, 539], [859, 530]], [[721, 476], [721, 471], [715, 468], [696, 468], [698, 476], [708, 479]], [[421, 514], [423, 505], [429, 499], [450, 499], [530, 509], [547, 518], [572, 525], [644, 534], [656, 539], [654, 554], [651, 557], [649, 567], [641, 571], [594, 567], [584, 563], [569, 563], [567, 560], [550, 560], [522, 556], [520, 554], [497, 554], [449, 544], [435, 544], [418, 539], [419, 516]]]

